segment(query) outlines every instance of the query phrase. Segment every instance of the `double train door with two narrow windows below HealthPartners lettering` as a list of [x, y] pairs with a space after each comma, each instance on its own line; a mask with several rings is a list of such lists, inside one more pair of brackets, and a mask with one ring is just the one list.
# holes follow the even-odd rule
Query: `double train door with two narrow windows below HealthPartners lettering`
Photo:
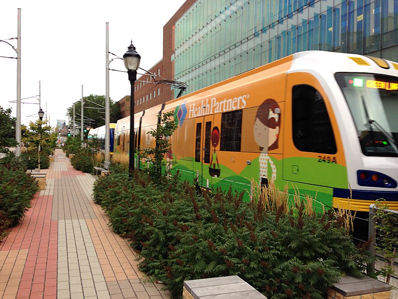
[[213, 116], [196, 118], [194, 172], [199, 186], [207, 187], [211, 160], [211, 128]]

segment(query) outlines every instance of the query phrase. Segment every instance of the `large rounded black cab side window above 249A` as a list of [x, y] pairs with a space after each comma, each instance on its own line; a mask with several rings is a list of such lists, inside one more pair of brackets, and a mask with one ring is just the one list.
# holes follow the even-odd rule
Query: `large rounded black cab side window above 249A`
[[319, 92], [308, 85], [293, 87], [293, 142], [298, 150], [336, 153], [336, 142]]

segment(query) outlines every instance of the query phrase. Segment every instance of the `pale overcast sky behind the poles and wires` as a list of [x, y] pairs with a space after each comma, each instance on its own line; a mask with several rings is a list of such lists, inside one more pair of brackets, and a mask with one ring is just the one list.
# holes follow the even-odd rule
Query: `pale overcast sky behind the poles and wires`
[[[132, 39], [149, 69], [163, 57], [163, 26], [185, 0], [0, 0], [0, 40], [17, 36], [21, 8], [21, 98], [39, 95], [50, 125], [66, 120], [66, 109], [83, 95], [105, 95], [105, 22], [109, 51], [122, 57]], [[17, 40], [6, 40], [17, 47]], [[0, 42], [0, 56], [16, 57]], [[114, 56], [109, 55], [109, 59]], [[0, 57], [0, 106], [16, 115], [16, 59]], [[122, 60], [110, 68], [125, 70]], [[127, 73], [109, 71], [109, 96], [130, 94]], [[38, 103], [31, 98], [21, 102]], [[46, 106], [47, 105], [47, 106]], [[21, 123], [37, 119], [38, 105], [21, 105]], [[80, 112], [79, 112], [80, 113]], [[33, 115], [33, 116], [31, 116]]]

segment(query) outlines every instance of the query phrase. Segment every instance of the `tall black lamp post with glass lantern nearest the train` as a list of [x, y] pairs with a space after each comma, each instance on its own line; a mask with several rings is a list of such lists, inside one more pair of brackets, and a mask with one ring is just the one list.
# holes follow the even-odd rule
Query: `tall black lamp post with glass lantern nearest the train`
[[134, 174], [134, 153], [135, 153], [135, 136], [134, 136], [134, 82], [137, 80], [137, 69], [140, 66], [141, 56], [135, 50], [133, 42], [127, 48], [127, 52], [123, 55], [124, 66], [127, 69], [128, 80], [131, 85], [130, 92], [130, 152], [128, 161], [128, 177], [132, 178]]

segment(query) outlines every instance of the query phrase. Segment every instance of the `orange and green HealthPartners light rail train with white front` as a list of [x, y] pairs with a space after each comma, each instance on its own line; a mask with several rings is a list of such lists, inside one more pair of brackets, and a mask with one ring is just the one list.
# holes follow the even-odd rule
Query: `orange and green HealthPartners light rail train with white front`
[[[136, 114], [137, 147], [155, 146], [147, 132], [169, 111], [178, 129], [166, 158], [182, 179], [249, 194], [254, 178], [318, 206], [369, 211], [384, 198], [398, 210], [397, 62], [299, 52]], [[129, 117], [115, 151], [128, 141]]]

